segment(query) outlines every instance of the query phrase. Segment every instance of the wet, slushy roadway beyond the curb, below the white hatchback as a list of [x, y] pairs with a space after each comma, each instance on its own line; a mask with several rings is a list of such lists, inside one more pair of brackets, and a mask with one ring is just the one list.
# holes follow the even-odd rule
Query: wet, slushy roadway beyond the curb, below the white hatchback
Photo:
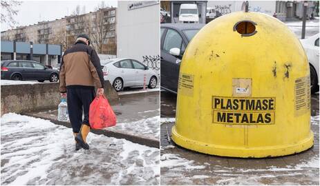
[[[117, 114], [117, 125], [106, 130], [160, 141], [160, 109], [157, 93], [127, 95], [120, 99], [120, 103], [111, 107]], [[56, 119], [57, 110], [45, 110], [34, 115]]]

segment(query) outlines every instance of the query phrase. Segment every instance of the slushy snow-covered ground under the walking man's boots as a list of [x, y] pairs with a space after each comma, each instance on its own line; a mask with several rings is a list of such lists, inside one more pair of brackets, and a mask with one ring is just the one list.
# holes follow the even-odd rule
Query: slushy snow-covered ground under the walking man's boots
[[1, 185], [158, 185], [159, 149], [89, 134], [74, 151], [70, 128], [19, 114], [1, 117]]

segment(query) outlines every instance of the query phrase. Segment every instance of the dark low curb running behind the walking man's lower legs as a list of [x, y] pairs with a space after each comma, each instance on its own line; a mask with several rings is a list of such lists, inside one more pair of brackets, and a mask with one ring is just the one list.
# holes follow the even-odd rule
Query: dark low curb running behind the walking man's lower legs
[[[62, 125], [62, 126], [71, 128], [71, 124], [68, 122], [57, 121], [56, 119], [48, 118], [45, 116], [39, 116], [34, 113], [21, 113], [21, 114], [26, 115], [26, 116], [32, 116], [32, 117], [36, 117], [36, 118], [49, 120], [50, 122], [55, 123], [56, 125]], [[149, 139], [149, 138], [141, 138], [139, 136], [133, 136], [130, 134], [113, 132], [113, 131], [109, 131], [109, 130], [91, 130], [91, 132], [93, 134], [102, 134], [104, 136], [113, 137], [113, 138], [120, 138], [120, 139], [124, 138], [124, 139], [131, 141], [133, 143], [139, 143], [140, 145], [146, 145], [148, 147], [154, 147], [154, 148], [158, 148], [158, 149], [160, 148], [160, 141], [156, 141], [156, 140]]]

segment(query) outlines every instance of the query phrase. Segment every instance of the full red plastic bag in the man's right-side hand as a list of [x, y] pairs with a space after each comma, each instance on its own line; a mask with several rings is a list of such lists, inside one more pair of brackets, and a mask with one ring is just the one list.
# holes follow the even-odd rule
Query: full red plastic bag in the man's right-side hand
[[90, 104], [89, 123], [93, 129], [103, 129], [115, 125], [117, 118], [104, 95], [97, 96]]

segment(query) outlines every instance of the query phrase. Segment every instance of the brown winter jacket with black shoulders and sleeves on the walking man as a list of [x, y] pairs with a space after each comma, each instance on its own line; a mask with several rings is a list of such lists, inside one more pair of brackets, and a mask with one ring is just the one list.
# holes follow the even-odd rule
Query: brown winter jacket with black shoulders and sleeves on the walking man
[[104, 76], [97, 52], [83, 41], [77, 41], [64, 52], [59, 73], [59, 91], [66, 87], [104, 87]]

